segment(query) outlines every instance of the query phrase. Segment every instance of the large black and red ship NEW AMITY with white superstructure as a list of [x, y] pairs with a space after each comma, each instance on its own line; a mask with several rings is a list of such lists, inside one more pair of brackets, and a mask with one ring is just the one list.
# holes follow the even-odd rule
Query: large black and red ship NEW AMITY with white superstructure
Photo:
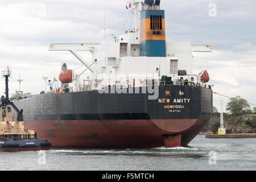
[[[187, 146], [209, 121], [209, 74], [193, 73], [192, 53], [212, 52], [212, 44], [167, 41], [158, 0], [133, 0], [126, 8], [133, 28], [113, 34], [113, 42], [49, 43], [49, 51], [71, 52], [83, 72], [64, 63], [60, 88], [49, 84], [50, 92], [13, 99], [24, 125], [52, 147]], [[92, 53], [92, 61], [79, 51]]]

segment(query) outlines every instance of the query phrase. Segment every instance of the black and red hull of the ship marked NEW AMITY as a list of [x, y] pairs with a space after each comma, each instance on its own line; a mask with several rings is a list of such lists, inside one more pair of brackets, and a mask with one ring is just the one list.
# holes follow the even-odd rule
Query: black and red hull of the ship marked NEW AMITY
[[128, 92], [43, 94], [14, 104], [24, 110], [25, 126], [53, 141], [53, 147], [133, 147], [135, 138], [141, 145], [134, 142], [134, 147], [156, 147], [164, 146], [166, 135], [181, 135], [185, 146], [212, 113], [212, 90], [207, 88], [159, 86], [157, 100], [148, 100], [142, 88], [138, 94]]

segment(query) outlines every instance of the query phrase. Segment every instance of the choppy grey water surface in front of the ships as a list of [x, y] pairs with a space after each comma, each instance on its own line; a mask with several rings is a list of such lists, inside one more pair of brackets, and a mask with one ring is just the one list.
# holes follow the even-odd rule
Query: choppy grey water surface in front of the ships
[[188, 148], [52, 149], [45, 156], [46, 160], [34, 151], [0, 152], [0, 170], [256, 170], [256, 138], [198, 135]]

